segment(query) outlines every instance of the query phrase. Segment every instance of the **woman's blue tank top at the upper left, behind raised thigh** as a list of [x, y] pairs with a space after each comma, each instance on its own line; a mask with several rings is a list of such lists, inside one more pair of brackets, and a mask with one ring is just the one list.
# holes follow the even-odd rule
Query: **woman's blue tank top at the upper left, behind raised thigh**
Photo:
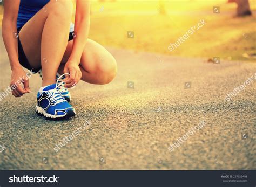
[[[21, 0], [17, 19], [17, 29], [25, 25], [40, 9], [50, 0]], [[74, 25], [70, 24], [70, 32], [74, 31]]]

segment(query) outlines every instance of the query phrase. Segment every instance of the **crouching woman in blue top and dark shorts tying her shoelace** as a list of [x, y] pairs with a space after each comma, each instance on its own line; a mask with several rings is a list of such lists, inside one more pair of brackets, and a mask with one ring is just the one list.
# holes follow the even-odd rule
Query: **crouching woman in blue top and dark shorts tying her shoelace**
[[[90, 2], [76, 0], [75, 26], [71, 0], [5, 0], [3, 40], [11, 65], [12, 94], [30, 93], [23, 67], [42, 73], [36, 111], [51, 119], [75, 115], [68, 89], [81, 79], [107, 84], [117, 73], [116, 60], [87, 38]], [[60, 77], [60, 74], [65, 77]], [[65, 79], [64, 79], [65, 78]], [[65, 85], [57, 84], [63, 81]], [[18, 84], [17, 84], [18, 82]]]

